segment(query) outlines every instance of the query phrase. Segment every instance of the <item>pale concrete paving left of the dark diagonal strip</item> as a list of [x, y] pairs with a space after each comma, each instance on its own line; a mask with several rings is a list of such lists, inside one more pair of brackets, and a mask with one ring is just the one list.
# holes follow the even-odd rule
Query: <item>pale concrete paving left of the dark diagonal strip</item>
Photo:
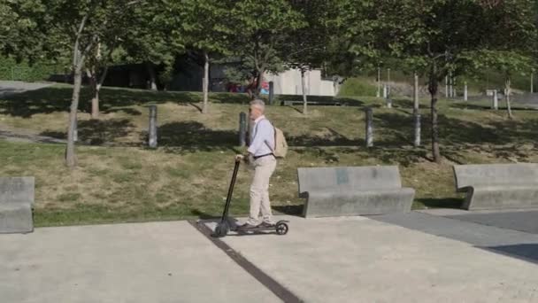
[[0, 235], [0, 301], [280, 302], [186, 221]]

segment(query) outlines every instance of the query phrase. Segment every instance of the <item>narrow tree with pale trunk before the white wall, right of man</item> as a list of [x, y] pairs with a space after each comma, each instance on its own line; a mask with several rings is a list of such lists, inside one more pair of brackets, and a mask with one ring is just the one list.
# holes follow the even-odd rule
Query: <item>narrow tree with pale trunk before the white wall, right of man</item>
[[304, 74], [312, 68], [321, 67], [327, 58], [329, 34], [327, 21], [330, 2], [319, 0], [292, 1], [294, 9], [304, 16], [304, 26], [288, 32], [287, 43], [281, 45], [281, 58], [285, 66], [301, 73], [303, 113], [308, 114], [308, 100]]

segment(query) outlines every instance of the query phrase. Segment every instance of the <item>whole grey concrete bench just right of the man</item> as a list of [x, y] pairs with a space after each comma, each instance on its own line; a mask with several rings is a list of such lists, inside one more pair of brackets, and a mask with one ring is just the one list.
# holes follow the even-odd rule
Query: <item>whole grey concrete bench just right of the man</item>
[[298, 168], [298, 180], [304, 217], [410, 212], [415, 196], [398, 167]]

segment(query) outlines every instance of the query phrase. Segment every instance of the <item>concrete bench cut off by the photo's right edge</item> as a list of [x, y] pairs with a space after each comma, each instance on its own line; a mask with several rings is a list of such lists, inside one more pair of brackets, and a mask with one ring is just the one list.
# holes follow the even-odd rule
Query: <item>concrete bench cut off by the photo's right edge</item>
[[538, 207], [538, 164], [457, 165], [454, 176], [467, 210]]

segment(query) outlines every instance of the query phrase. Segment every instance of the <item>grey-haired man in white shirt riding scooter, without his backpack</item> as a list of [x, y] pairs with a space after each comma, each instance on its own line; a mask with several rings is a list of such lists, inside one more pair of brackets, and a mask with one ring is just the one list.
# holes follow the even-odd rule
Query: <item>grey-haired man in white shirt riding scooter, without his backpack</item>
[[[269, 201], [269, 179], [276, 168], [274, 157], [274, 128], [265, 118], [265, 103], [262, 100], [250, 102], [250, 120], [254, 120], [254, 128], [250, 134], [248, 159], [254, 167], [254, 178], [250, 185], [250, 215], [249, 220], [238, 229], [251, 229], [257, 226], [272, 227], [273, 214]], [[238, 159], [244, 156], [238, 155]], [[262, 214], [260, 220], [259, 214]]]

